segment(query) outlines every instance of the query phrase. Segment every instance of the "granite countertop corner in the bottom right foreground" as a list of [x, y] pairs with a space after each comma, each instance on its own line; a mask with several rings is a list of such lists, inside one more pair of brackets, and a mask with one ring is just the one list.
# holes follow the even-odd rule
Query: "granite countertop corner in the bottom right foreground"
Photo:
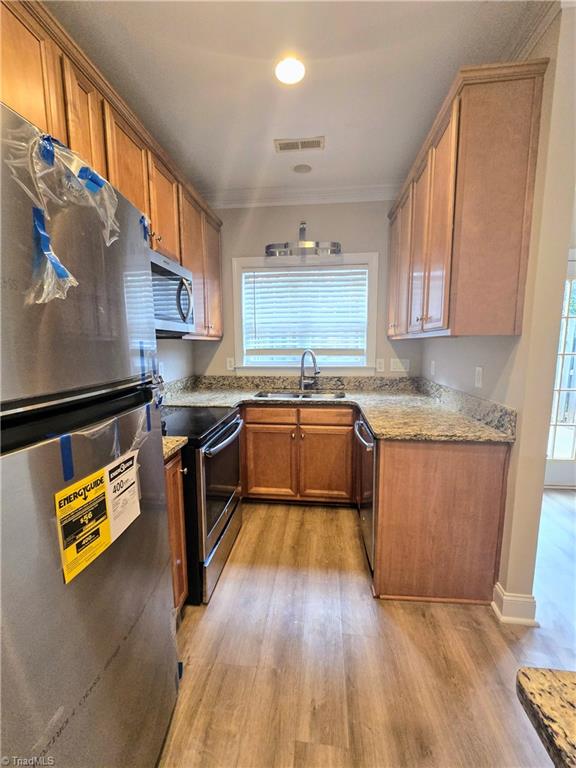
[[554, 765], [576, 766], [576, 672], [522, 667], [516, 690]]

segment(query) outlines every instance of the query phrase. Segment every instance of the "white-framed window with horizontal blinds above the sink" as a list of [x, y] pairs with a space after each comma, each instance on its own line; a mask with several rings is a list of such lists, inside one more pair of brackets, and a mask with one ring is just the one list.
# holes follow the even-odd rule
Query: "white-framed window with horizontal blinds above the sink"
[[377, 254], [235, 259], [236, 364], [295, 366], [311, 348], [324, 367], [373, 367], [377, 269]]

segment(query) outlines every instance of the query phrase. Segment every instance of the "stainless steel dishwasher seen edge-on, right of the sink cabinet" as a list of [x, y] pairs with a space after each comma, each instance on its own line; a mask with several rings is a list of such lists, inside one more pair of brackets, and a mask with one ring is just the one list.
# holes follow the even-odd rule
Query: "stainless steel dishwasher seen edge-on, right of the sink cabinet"
[[374, 509], [376, 477], [376, 440], [364, 419], [354, 424], [358, 445], [358, 492], [357, 504], [360, 516], [360, 530], [368, 555], [370, 568], [374, 570], [374, 542], [376, 532], [376, 511]]

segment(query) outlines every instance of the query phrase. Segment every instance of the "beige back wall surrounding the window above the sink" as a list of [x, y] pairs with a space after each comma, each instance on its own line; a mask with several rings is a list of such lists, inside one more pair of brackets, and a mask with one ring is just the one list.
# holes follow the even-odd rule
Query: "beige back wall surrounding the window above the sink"
[[[387, 212], [390, 206], [391, 202], [331, 203], [218, 211], [223, 221], [224, 338], [220, 343], [195, 343], [195, 372], [230, 375], [230, 371], [226, 370], [226, 358], [234, 357], [232, 259], [262, 256], [267, 243], [298, 239], [298, 224], [305, 220], [308, 222], [309, 236], [315, 240], [338, 240], [342, 243], [343, 251], [349, 253], [377, 251], [380, 254], [376, 357], [385, 360], [385, 375], [397, 375], [390, 372], [391, 358], [409, 359], [410, 373], [419, 374], [420, 342], [412, 340], [390, 343], [386, 338]], [[262, 372], [275, 371], [268, 369]], [[354, 372], [354, 369], [350, 369], [350, 372]]]

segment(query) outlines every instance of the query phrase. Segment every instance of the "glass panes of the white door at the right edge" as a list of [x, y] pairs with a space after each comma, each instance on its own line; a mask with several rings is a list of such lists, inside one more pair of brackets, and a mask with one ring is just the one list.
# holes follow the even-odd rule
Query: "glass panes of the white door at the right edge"
[[548, 458], [576, 458], [576, 279], [564, 290]]

